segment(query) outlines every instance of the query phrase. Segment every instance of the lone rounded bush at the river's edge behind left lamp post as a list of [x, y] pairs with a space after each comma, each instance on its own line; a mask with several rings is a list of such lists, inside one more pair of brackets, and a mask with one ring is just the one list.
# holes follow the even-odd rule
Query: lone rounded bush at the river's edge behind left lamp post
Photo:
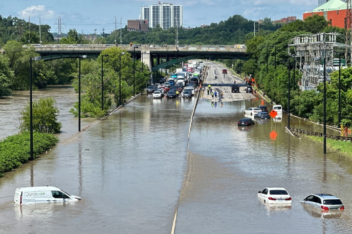
[[[61, 129], [61, 123], [57, 121], [59, 110], [54, 107], [56, 101], [52, 97], [40, 98], [33, 101], [33, 132], [39, 133], [58, 133]], [[24, 110], [20, 112], [19, 126], [20, 132], [30, 130], [30, 104], [28, 103]]]

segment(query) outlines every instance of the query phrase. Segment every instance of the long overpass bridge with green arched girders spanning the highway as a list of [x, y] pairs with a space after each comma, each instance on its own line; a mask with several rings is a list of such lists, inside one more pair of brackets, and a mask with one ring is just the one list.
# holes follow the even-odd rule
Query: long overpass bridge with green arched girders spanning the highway
[[[178, 65], [182, 61], [191, 59], [242, 59], [247, 60], [248, 54], [245, 45], [235, 46], [149, 46], [149, 45], [117, 45], [122, 50], [136, 55], [141, 59], [150, 71], [158, 71], [161, 68], [169, 68]], [[24, 46], [26, 47], [26, 46]], [[99, 54], [115, 45], [34, 45], [35, 52], [40, 54], [43, 60], [59, 58], [77, 58], [87, 55], [89, 58], [97, 58]]]

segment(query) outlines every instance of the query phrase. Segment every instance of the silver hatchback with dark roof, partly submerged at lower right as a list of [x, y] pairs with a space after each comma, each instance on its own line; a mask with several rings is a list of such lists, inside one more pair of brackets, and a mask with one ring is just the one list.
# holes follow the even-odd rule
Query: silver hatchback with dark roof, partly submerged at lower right
[[319, 210], [344, 210], [344, 206], [338, 197], [331, 194], [311, 194], [299, 201], [303, 205], [315, 207]]

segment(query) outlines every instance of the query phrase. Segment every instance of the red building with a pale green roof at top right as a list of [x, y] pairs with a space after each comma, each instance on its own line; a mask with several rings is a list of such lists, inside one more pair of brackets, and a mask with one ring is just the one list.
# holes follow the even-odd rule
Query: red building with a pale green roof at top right
[[313, 11], [304, 12], [303, 20], [312, 15], [322, 15], [330, 22], [331, 26], [344, 28], [346, 21], [346, 3], [340, 0], [331, 0], [315, 8]]

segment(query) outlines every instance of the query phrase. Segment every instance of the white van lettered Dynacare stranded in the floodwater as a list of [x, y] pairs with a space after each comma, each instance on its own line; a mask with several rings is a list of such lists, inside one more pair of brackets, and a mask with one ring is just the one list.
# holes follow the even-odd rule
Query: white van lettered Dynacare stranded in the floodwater
[[16, 188], [15, 197], [13, 199], [14, 203], [19, 205], [79, 200], [82, 199], [52, 186]]

